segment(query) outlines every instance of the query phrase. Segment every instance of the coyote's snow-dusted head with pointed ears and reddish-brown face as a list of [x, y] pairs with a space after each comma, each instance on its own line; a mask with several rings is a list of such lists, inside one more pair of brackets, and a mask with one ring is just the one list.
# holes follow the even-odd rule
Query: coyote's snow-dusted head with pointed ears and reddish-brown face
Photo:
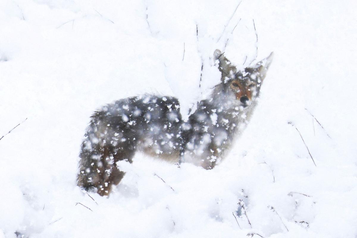
[[255, 66], [246, 67], [243, 71], [237, 71], [220, 50], [215, 50], [214, 57], [219, 61], [218, 69], [222, 73], [221, 84], [225, 92], [230, 98], [235, 98], [236, 105], [243, 108], [251, 105], [259, 95], [260, 87], [273, 60], [273, 52]]

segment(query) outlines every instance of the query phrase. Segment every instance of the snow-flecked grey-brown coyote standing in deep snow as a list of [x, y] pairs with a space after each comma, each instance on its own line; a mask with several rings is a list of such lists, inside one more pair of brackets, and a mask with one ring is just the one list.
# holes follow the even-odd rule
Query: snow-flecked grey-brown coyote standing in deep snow
[[197, 102], [187, 121], [177, 98], [152, 94], [123, 98], [95, 111], [81, 145], [77, 185], [109, 195], [125, 174], [116, 162], [132, 163], [136, 151], [215, 167], [252, 116], [273, 53], [243, 71], [220, 50], [213, 55], [221, 82], [208, 99]]

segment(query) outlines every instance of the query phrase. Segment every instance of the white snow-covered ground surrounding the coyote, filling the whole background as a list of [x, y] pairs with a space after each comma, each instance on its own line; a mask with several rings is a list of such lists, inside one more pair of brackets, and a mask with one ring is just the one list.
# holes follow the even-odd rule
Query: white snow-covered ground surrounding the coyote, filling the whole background
[[[27, 118], [0, 140], [0, 237], [356, 238], [356, 1], [238, 4], [0, 0], [0, 137]], [[138, 153], [109, 198], [76, 187], [92, 111], [151, 92], [186, 117], [215, 49], [241, 68], [275, 52], [220, 165]]]

